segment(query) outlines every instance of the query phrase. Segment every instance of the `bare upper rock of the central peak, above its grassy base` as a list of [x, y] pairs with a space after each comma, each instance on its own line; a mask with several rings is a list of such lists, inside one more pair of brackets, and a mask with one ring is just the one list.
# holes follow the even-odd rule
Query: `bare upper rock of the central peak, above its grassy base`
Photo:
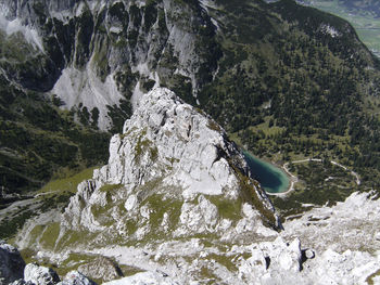
[[239, 179], [232, 166], [249, 174], [225, 131], [168, 89], [157, 88], [142, 98], [123, 134], [112, 138], [109, 165], [94, 178], [131, 189], [162, 178], [163, 185], [181, 187], [183, 198], [202, 193], [236, 199]]

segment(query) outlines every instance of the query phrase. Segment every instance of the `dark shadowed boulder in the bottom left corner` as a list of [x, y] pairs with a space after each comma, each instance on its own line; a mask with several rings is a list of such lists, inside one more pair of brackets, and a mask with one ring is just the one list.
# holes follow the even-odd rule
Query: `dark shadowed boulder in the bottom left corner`
[[25, 261], [18, 250], [0, 241], [0, 285], [7, 285], [23, 277]]

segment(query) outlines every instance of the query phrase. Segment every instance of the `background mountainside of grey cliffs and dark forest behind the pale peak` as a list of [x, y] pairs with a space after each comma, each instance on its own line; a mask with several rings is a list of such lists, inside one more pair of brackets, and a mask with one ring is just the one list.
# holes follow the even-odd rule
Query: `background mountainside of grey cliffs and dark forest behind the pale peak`
[[1, 9], [3, 76], [87, 128], [119, 131], [142, 93], [163, 86], [258, 156], [333, 158], [362, 176], [362, 189], [379, 184], [379, 63], [338, 17], [290, 0], [2, 0]]

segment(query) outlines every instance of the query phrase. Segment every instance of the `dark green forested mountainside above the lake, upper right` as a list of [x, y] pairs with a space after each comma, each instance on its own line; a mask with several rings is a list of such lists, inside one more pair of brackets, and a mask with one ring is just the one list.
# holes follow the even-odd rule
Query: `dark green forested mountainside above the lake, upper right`
[[352, 26], [294, 1], [220, 4], [208, 11], [224, 56], [201, 106], [256, 155], [334, 158], [377, 187], [379, 63]]

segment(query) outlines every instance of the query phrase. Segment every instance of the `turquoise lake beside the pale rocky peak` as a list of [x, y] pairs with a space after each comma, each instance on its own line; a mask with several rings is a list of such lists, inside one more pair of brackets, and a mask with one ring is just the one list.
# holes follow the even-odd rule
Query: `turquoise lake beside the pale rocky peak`
[[288, 191], [289, 178], [281, 169], [254, 157], [249, 152], [243, 151], [243, 154], [253, 178], [262, 184], [267, 193]]

